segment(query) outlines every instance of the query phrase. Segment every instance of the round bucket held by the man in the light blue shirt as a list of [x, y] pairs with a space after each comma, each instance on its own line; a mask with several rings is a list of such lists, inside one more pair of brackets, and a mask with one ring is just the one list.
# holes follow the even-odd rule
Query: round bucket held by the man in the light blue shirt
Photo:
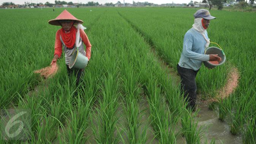
[[215, 47], [215, 46], [207, 47], [207, 49], [205, 49], [204, 54], [218, 54], [218, 56], [221, 57], [221, 61], [219, 61], [218, 64], [214, 64], [209, 61], [204, 62], [204, 65], [207, 68], [214, 68], [215, 66], [222, 65], [226, 61], [226, 56], [225, 56], [223, 50], [219, 49], [218, 47]]

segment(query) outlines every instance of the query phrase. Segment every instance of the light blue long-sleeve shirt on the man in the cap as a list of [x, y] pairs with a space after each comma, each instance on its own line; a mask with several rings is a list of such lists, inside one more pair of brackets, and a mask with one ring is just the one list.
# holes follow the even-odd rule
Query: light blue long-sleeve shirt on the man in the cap
[[[205, 37], [208, 39], [207, 31]], [[181, 53], [179, 66], [199, 70], [203, 61], [209, 60], [209, 55], [204, 54], [206, 40], [201, 33], [191, 28], [186, 32], [183, 41], [183, 50]]]

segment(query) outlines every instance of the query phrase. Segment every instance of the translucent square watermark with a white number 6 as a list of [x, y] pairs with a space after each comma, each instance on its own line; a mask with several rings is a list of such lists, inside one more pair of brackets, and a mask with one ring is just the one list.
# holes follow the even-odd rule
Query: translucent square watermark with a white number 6
[[24, 109], [1, 109], [0, 139], [30, 139], [31, 112]]

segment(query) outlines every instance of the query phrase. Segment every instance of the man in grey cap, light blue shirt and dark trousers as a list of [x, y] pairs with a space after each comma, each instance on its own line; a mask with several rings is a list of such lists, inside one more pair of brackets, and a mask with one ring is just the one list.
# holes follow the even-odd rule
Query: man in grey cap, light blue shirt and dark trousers
[[196, 74], [203, 61], [220, 61], [218, 55], [206, 55], [204, 50], [210, 44], [206, 29], [211, 19], [215, 19], [206, 9], [199, 9], [194, 14], [194, 24], [186, 32], [183, 40], [183, 51], [177, 65], [181, 78], [181, 92], [184, 92], [187, 108], [194, 111], [196, 105]]

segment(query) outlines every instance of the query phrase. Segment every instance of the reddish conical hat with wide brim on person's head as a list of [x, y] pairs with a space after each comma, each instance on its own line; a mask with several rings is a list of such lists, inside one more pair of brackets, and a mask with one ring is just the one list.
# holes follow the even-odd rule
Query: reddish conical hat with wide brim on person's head
[[77, 19], [76, 17], [74, 17], [66, 9], [64, 11], [62, 11], [62, 13], [60, 13], [60, 15], [57, 16], [55, 19], [52, 19], [52, 20], [48, 21], [48, 23], [51, 24], [51, 25], [60, 25], [59, 22], [58, 22], [59, 20], [74, 20], [74, 21], [77, 21], [80, 24], [83, 24], [82, 20]]

